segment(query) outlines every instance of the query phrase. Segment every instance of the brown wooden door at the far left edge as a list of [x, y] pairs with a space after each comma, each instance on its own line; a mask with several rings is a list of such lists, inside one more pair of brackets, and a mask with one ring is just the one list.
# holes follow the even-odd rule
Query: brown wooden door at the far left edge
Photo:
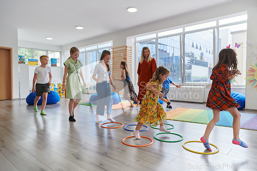
[[12, 48], [0, 47], [0, 100], [13, 100]]

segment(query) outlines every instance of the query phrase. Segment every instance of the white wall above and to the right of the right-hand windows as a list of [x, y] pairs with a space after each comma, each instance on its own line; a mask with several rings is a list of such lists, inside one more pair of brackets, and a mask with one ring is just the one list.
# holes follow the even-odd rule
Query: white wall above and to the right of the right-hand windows
[[[183, 15], [178, 15], [164, 20], [159, 20], [149, 24], [144, 24], [138, 27], [128, 28], [119, 32], [94, 37], [93, 39], [83, 40], [80, 42], [75, 42], [63, 46], [63, 52], [69, 50], [72, 46], [83, 47], [91, 44], [97, 44], [105, 41], [113, 41], [113, 47], [124, 46], [127, 42], [127, 37], [151, 33], [157, 30], [167, 30], [168, 28], [178, 28], [179, 26], [188, 25], [191, 23], [198, 24], [202, 21], [208, 22], [212, 18], [231, 16], [235, 13], [243, 13], [247, 11], [248, 21], [247, 21], [247, 40], [253, 43], [254, 48], [257, 49], [257, 1], [255, 0], [235, 0], [232, 3], [222, 4], [214, 6], [211, 8], [206, 8], [203, 10], [197, 10], [194, 12], [186, 13]], [[247, 47], [247, 55], [252, 55], [254, 48], [250, 49]], [[135, 50], [135, 49], [134, 49]], [[255, 64], [256, 59], [252, 59], [253, 64]], [[250, 60], [247, 60], [247, 67], [249, 68]], [[257, 91], [250, 90], [250, 85], [246, 86], [246, 108], [248, 109], [257, 109]]]

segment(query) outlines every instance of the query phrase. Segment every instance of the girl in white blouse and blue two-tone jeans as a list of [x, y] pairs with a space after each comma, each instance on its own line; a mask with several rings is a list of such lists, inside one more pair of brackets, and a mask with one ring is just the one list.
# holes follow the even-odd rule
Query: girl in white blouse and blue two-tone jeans
[[[111, 52], [108, 50], [104, 50], [102, 52], [100, 63], [96, 65], [94, 74], [92, 78], [97, 82], [96, 84], [96, 91], [97, 91], [97, 110], [96, 110], [96, 121], [102, 122], [99, 115], [104, 115], [104, 108], [105, 108], [105, 100], [107, 103], [107, 120], [111, 122], [115, 122], [114, 119], [111, 117], [111, 111], [113, 106], [113, 98], [112, 98], [112, 91], [110, 84], [112, 84], [114, 91], [117, 88], [116, 85], [113, 84], [111, 79], [111, 68], [109, 65], [109, 61], [111, 59]], [[97, 78], [96, 78], [96, 74]]]

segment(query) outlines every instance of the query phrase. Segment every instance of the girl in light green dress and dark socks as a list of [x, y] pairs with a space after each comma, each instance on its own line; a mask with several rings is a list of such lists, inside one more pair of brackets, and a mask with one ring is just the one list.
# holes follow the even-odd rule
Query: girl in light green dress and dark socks
[[74, 109], [82, 98], [82, 88], [79, 75], [84, 86], [86, 86], [86, 83], [81, 71], [82, 63], [78, 60], [80, 54], [79, 49], [77, 47], [72, 47], [69, 52], [70, 57], [64, 62], [65, 68], [62, 90], [66, 89], [66, 98], [69, 99], [69, 121], [76, 121], [74, 119]]

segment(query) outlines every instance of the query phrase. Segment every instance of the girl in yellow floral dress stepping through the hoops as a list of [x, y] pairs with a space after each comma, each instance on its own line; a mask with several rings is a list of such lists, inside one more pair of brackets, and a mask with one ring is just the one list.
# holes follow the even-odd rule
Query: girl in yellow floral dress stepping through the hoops
[[[167, 80], [169, 75], [170, 71], [167, 67], [159, 66], [154, 73], [153, 79], [146, 83], [148, 90], [146, 90], [143, 97], [139, 113], [134, 119], [134, 121], [138, 122], [136, 129], [133, 131], [133, 135], [136, 139], [141, 139], [139, 130], [143, 124], [154, 127], [160, 125], [160, 131], [170, 132], [164, 127], [164, 120], [166, 120], [167, 115], [159, 103], [159, 97], [163, 97], [163, 93], [160, 92], [162, 83]], [[164, 102], [166, 101], [164, 100]], [[168, 101], [166, 103], [168, 103]]]

